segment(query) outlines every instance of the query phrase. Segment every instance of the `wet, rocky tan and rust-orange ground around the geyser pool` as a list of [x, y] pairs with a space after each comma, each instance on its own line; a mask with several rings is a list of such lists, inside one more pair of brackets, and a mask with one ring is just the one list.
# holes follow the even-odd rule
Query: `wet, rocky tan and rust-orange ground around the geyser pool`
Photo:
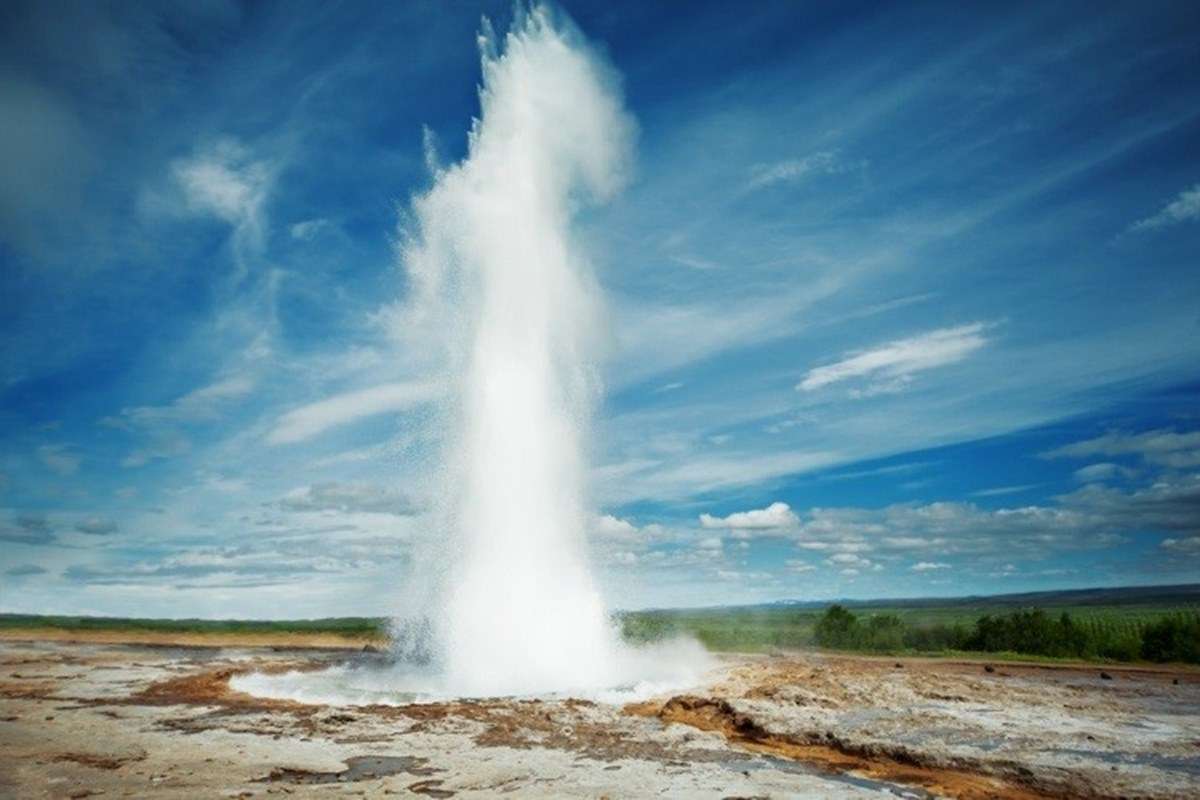
[[[0, 640], [4, 798], [1186, 798], [1200, 673], [725, 656], [632, 705], [332, 708], [229, 688], [373, 652]], [[245, 643], [244, 643], [245, 644]]]

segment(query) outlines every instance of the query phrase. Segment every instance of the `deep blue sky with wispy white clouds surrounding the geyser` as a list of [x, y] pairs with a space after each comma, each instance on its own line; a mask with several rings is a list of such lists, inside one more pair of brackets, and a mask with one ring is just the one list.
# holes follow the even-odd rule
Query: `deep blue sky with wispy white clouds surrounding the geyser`
[[[578, 231], [614, 604], [1200, 579], [1195, 4], [624, 5], [564, 5], [640, 126]], [[391, 608], [481, 14], [6, 4], [0, 609]]]

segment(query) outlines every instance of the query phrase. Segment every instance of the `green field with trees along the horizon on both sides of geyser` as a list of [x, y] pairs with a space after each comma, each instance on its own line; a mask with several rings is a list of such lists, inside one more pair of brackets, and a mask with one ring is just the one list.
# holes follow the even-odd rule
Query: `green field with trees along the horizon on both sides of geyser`
[[[888, 654], [1198, 661], [1200, 587], [1042, 593], [956, 600], [816, 603], [623, 612], [625, 638], [694, 636], [714, 651], [823, 648]], [[840, 612], [839, 612], [840, 613]], [[1066, 615], [1066, 616], [1064, 616]], [[822, 626], [822, 619], [827, 621]], [[335, 634], [385, 638], [383, 618], [314, 620], [119, 619], [0, 614], [0, 628], [158, 633]]]

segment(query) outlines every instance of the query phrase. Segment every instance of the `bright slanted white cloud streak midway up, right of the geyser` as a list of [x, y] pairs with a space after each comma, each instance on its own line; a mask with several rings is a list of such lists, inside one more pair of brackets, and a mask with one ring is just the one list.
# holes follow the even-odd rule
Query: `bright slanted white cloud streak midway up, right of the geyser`
[[916, 373], [955, 363], [982, 348], [988, 343], [983, 330], [983, 323], [973, 323], [888, 342], [810, 369], [796, 389], [808, 392], [842, 380], [871, 378], [874, 383], [856, 396], [900, 391]]

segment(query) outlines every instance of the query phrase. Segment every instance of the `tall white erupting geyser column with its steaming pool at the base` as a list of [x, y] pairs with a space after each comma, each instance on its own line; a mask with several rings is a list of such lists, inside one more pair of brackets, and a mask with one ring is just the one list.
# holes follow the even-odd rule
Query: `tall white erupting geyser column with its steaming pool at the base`
[[421, 633], [425, 664], [248, 676], [239, 688], [334, 702], [602, 694], [691, 682], [706, 667], [695, 643], [620, 640], [584, 539], [602, 314], [571, 222], [620, 188], [634, 122], [604, 64], [542, 6], [499, 49], [485, 23], [480, 48], [467, 157], [432, 166], [403, 248], [407, 329], [451, 387], [443, 535], [410, 593], [427, 602], [398, 625], [402, 640]]

